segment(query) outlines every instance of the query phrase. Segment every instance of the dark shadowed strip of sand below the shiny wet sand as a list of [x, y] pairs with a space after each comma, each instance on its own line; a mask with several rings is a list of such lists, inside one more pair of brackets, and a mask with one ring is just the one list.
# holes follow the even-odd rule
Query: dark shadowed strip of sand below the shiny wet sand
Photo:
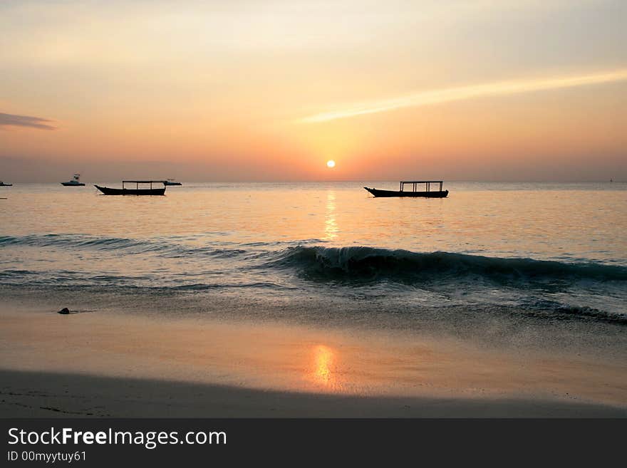
[[0, 380], [1, 417], [627, 417], [537, 398], [360, 397], [14, 370]]

